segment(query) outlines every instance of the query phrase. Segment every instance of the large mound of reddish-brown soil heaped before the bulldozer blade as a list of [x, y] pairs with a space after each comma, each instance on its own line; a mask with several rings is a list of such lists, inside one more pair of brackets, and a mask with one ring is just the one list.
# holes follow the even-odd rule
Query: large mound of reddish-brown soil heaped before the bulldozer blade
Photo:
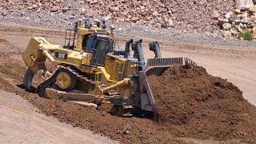
[[242, 91], [200, 66], [173, 66], [149, 78], [154, 120], [190, 138], [256, 140], [256, 107]]

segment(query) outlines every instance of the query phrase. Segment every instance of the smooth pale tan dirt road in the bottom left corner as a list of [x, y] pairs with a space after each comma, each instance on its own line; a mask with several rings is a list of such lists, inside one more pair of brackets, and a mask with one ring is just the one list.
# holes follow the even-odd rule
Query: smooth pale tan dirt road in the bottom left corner
[[113, 143], [38, 111], [17, 94], [0, 90], [0, 143]]

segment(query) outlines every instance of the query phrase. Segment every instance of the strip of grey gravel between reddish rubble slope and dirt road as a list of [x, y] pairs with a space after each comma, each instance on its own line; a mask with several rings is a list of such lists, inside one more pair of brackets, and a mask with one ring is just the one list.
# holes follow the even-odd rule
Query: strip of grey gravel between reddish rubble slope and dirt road
[[[1, 12], [1, 10], [0, 10]], [[70, 16], [71, 15], [71, 16]], [[0, 16], [0, 21], [25, 26], [37, 26], [50, 29], [66, 30], [74, 26], [78, 18], [86, 18], [82, 14], [72, 16], [68, 14], [55, 13], [26, 13], [15, 10], [7, 16]], [[91, 18], [88, 18], [91, 20]], [[168, 42], [182, 42], [214, 46], [238, 46], [238, 47], [256, 47], [256, 42], [246, 42], [235, 38], [223, 38], [218, 30], [215, 33], [203, 32], [199, 30], [178, 30], [178, 29], [159, 29], [151, 26], [138, 25], [130, 22], [112, 22], [108, 25], [116, 28], [117, 36], [130, 34], [131, 38], [147, 37], [152, 40], [167, 40]]]

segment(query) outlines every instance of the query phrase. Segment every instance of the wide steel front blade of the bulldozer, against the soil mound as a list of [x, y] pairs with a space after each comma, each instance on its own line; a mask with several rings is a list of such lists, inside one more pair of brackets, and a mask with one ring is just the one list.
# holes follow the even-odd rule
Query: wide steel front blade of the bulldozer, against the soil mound
[[147, 80], [150, 75], [161, 76], [170, 66], [187, 64], [196, 65], [189, 58], [150, 58], [146, 63], [145, 71], [139, 72], [141, 109], [154, 110], [154, 95]]

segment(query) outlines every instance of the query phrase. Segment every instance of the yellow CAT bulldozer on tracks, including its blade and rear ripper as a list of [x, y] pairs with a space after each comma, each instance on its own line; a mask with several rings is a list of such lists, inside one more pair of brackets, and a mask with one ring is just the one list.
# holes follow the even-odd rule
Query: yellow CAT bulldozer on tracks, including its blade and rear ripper
[[[161, 58], [158, 42], [149, 44], [155, 57], [145, 61], [142, 40], [130, 39], [122, 50], [116, 48], [113, 31], [113, 27], [106, 29], [104, 21], [96, 19], [92, 24], [79, 19], [74, 29], [66, 30], [64, 46], [46, 38], [31, 38], [22, 55], [28, 67], [24, 88], [35, 88], [43, 98], [95, 106], [118, 116], [153, 114], [148, 76], [161, 75], [174, 64], [195, 63], [189, 58]], [[47, 70], [46, 60], [54, 70]]]

